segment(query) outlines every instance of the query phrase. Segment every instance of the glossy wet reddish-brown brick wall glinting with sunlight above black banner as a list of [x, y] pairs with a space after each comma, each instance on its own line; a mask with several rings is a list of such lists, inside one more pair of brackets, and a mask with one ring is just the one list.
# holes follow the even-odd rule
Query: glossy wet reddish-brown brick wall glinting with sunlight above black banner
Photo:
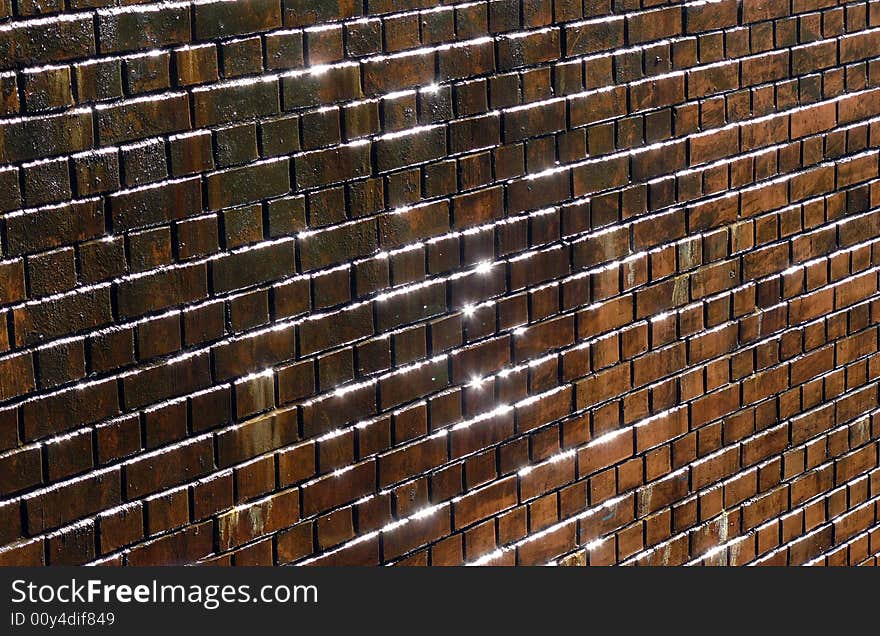
[[877, 564], [878, 154], [878, 0], [0, 0], [0, 563]]

